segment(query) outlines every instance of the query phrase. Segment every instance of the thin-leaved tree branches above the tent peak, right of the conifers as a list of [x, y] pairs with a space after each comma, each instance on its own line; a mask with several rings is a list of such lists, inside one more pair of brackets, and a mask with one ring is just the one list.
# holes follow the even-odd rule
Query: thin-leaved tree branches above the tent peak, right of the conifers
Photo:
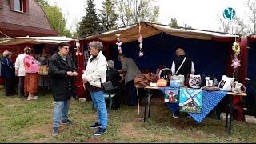
[[138, 21], [156, 22], [159, 16], [159, 7], [154, 6], [155, 0], [114, 0], [118, 10], [118, 18], [123, 26]]

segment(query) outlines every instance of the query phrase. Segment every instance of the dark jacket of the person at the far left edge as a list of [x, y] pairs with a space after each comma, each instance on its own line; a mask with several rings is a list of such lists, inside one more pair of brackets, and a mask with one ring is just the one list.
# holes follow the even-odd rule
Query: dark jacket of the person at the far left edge
[[11, 60], [7, 57], [2, 59], [1, 75], [3, 78], [14, 78], [15, 77], [14, 63], [11, 62]]

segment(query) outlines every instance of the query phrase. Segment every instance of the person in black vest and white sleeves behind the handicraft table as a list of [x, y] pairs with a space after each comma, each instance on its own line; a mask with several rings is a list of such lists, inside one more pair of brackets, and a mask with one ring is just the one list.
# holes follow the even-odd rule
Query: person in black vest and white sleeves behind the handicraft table
[[[172, 74], [182, 74], [185, 77], [187, 74], [194, 74], [194, 63], [190, 58], [186, 58], [185, 50], [183, 50], [182, 48], [178, 48], [175, 51], [175, 54], [177, 55], [177, 58], [174, 59], [171, 66]], [[190, 117], [188, 114], [187, 116]], [[174, 111], [173, 117], [179, 118], [179, 110]]]

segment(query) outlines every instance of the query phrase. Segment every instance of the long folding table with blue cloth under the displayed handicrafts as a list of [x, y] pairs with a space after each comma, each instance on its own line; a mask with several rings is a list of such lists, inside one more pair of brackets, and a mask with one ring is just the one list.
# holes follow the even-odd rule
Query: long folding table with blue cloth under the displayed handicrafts
[[[136, 87], [136, 88], [142, 88], [142, 87]], [[170, 88], [170, 86], [166, 87], [152, 87], [152, 86], [146, 86], [142, 88], [146, 91], [145, 95], [145, 107], [144, 107], [144, 122], [146, 122], [146, 111], [148, 111], [148, 118], [150, 118], [150, 109], [151, 109], [151, 97], [153, 94], [150, 94], [150, 90], [164, 90], [164, 89], [175, 89]], [[225, 92], [225, 91], [206, 91], [202, 90], [202, 113], [196, 114], [196, 113], [188, 113], [191, 115], [194, 120], [196, 120], [198, 123], [202, 121], [203, 118], [206, 117], [207, 114], [210, 113], [210, 110], [213, 110], [215, 106], [217, 106], [218, 102], [222, 100], [225, 96], [230, 96], [230, 110], [226, 113], [226, 126], [228, 130], [228, 134], [230, 134], [231, 131], [231, 121], [232, 121], [232, 113], [233, 113], [233, 99], [234, 96], [246, 96], [246, 93], [236, 94], [232, 92]], [[174, 103], [175, 104], [175, 103]], [[177, 104], [178, 105], [178, 104]], [[148, 108], [148, 110], [146, 110]], [[230, 118], [228, 118], [228, 115], [230, 114]]]

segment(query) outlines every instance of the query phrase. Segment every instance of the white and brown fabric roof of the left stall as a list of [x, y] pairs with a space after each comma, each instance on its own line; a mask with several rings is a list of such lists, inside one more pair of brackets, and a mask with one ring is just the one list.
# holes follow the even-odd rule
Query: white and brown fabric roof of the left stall
[[71, 42], [72, 38], [67, 37], [15, 37], [15, 38], [6, 38], [0, 39], [1, 45], [18, 45], [22, 43], [31, 43], [31, 44], [58, 44], [61, 42]]

